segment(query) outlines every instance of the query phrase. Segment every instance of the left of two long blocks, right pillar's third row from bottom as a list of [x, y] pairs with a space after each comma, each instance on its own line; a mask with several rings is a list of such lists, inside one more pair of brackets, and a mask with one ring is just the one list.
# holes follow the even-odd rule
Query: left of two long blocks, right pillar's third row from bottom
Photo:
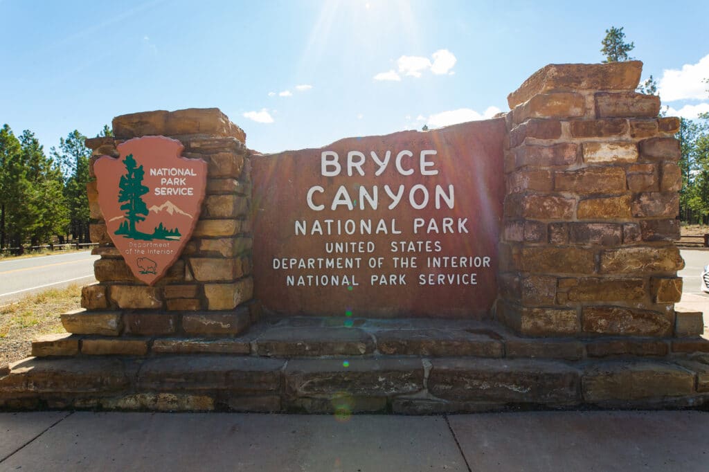
[[579, 247], [524, 247], [518, 266], [533, 274], [593, 274], [595, 253]]

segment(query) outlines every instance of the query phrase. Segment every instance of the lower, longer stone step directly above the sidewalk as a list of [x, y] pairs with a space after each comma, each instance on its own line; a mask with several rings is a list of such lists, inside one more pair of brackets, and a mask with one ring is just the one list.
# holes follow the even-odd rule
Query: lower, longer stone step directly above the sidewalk
[[709, 402], [709, 355], [559, 361], [239, 355], [30, 357], [0, 375], [0, 408], [401, 413], [686, 408]]

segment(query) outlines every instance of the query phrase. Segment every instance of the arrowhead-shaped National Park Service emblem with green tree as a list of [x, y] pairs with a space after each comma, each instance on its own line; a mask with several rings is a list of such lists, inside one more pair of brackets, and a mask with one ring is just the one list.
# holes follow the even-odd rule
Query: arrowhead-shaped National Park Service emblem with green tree
[[167, 137], [138, 137], [118, 145], [118, 159], [94, 164], [108, 235], [148, 285], [177, 260], [199, 219], [207, 164], [181, 157], [183, 149]]

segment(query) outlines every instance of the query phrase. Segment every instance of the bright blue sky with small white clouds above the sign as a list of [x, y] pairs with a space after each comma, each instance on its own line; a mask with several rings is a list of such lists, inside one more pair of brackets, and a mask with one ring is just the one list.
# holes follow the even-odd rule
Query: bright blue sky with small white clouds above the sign
[[703, 0], [0, 0], [0, 21], [0, 123], [46, 150], [156, 109], [216, 106], [262, 152], [481, 118], [545, 64], [600, 62], [610, 26], [671, 114], [709, 111]]

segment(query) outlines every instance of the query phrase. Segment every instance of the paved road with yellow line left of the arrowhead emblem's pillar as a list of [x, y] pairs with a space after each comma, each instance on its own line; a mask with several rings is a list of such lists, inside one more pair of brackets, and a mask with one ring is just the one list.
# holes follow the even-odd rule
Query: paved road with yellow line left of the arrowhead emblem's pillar
[[96, 259], [90, 251], [79, 251], [0, 262], [0, 306], [48, 288], [92, 283]]

